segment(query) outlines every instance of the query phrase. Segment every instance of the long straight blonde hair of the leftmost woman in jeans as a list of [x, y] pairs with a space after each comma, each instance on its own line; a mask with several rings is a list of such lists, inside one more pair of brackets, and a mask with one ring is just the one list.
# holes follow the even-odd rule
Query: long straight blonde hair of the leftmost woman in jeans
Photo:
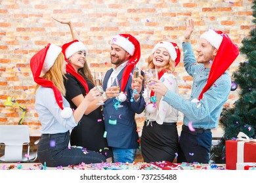
[[[60, 54], [58, 55], [58, 57], [53, 63], [53, 67], [51, 67], [51, 69], [49, 69], [49, 71], [47, 71], [47, 73], [45, 73], [45, 75], [41, 77], [46, 80], [51, 80], [51, 82], [53, 82], [56, 88], [58, 88], [60, 93], [62, 93], [62, 95], [65, 96], [66, 89], [63, 82], [63, 78], [65, 76], [64, 76], [64, 73], [62, 72], [64, 61], [65, 61], [64, 55], [62, 54], [62, 52], [60, 52]], [[39, 88], [39, 84], [37, 84], [37, 86], [35, 87], [35, 91], [37, 90], [37, 88]]]

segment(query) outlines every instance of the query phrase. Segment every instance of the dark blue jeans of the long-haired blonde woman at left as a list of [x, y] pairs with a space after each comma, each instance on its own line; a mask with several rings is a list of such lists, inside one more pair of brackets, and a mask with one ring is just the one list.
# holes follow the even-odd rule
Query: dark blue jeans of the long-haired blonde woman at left
[[70, 133], [43, 134], [38, 144], [38, 159], [47, 167], [79, 165], [79, 163], [101, 163], [106, 158], [97, 152], [81, 148], [68, 148]]

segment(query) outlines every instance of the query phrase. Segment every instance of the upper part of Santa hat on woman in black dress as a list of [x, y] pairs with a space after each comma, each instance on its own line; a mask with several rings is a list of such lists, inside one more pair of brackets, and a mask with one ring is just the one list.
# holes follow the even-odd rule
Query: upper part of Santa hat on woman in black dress
[[88, 49], [86, 48], [85, 44], [78, 40], [74, 40], [66, 44], [63, 44], [62, 50], [66, 58], [70, 58], [72, 55], [75, 54], [75, 52], [79, 52], [82, 50], [84, 50], [86, 54], [88, 53]]

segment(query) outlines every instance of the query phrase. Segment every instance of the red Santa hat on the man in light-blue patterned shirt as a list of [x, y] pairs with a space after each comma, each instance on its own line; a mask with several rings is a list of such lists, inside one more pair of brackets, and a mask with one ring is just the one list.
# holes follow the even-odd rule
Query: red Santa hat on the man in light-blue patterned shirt
[[211, 65], [207, 83], [198, 97], [199, 100], [202, 99], [203, 93], [207, 92], [214, 82], [223, 75], [239, 54], [238, 45], [233, 44], [228, 35], [222, 31], [209, 29], [202, 34], [201, 38], [217, 48], [218, 52], [213, 60], [213, 65]]

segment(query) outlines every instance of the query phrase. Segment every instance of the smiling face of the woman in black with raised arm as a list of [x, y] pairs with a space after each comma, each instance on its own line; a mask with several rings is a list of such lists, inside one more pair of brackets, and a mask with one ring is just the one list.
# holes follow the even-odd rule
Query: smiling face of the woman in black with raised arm
[[86, 53], [83, 50], [83, 51], [75, 52], [75, 54], [73, 54], [72, 56], [70, 56], [70, 58], [68, 58], [70, 64], [74, 67], [75, 71], [77, 71], [78, 69], [84, 66], [86, 61], [85, 56], [86, 56]]

